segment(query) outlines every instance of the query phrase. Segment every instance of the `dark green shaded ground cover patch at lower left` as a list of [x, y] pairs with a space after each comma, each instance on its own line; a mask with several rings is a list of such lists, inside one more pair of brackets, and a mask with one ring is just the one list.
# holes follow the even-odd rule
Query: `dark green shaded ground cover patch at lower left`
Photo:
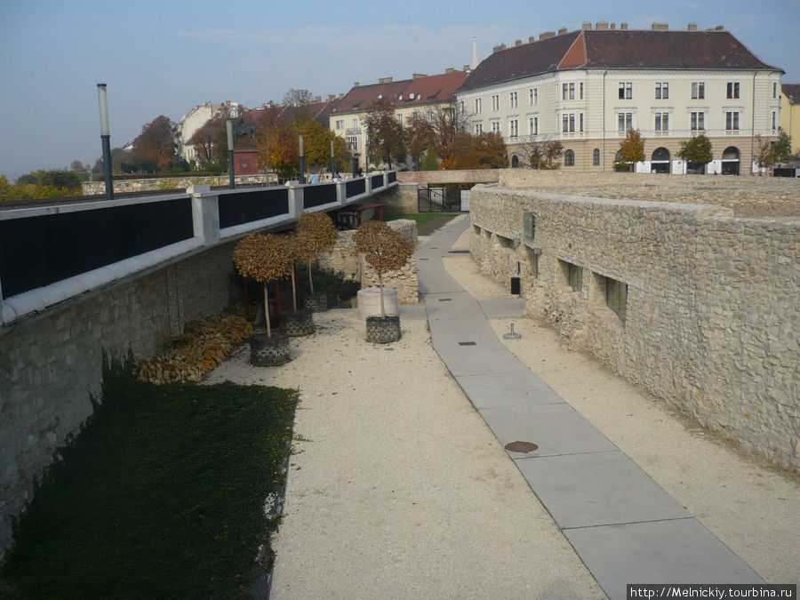
[[297, 393], [140, 383], [131, 362], [104, 364], [103, 402], [15, 522], [4, 580], [22, 597], [250, 596]]

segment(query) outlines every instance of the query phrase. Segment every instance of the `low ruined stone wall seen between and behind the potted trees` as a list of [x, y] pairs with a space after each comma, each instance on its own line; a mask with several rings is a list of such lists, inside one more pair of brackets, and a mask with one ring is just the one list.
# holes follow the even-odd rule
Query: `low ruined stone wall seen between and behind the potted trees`
[[[414, 221], [397, 219], [389, 221], [388, 226], [399, 231], [404, 240], [416, 247], [417, 224]], [[361, 282], [361, 287], [378, 285], [378, 274], [375, 269], [356, 252], [356, 244], [353, 242], [355, 233], [355, 229], [340, 231], [332, 249], [320, 254], [319, 266], [343, 273], [348, 279]], [[417, 261], [412, 257], [405, 263], [404, 268], [383, 276], [383, 284], [397, 290], [397, 301], [400, 304], [416, 304], [420, 298]]]

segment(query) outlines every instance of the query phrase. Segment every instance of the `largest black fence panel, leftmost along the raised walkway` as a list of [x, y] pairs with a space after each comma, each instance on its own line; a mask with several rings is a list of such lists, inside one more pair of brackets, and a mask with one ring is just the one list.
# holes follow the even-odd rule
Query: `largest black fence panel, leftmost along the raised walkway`
[[194, 236], [191, 198], [0, 221], [9, 298]]

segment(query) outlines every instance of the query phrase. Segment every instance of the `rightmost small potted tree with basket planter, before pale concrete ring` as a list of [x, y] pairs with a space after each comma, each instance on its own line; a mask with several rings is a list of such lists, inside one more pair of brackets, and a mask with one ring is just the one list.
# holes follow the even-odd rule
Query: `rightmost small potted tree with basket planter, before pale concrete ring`
[[381, 220], [370, 220], [358, 228], [353, 236], [356, 251], [364, 254], [378, 273], [380, 288], [380, 316], [367, 316], [367, 341], [379, 344], [400, 339], [400, 316], [386, 314], [383, 302], [383, 276], [389, 271], [403, 268], [414, 252], [413, 244], [406, 242], [399, 233]]

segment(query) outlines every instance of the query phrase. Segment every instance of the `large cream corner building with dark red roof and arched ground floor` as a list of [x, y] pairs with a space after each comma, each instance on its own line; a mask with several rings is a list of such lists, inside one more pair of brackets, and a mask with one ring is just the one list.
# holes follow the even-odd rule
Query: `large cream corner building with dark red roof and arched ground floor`
[[670, 31], [585, 23], [500, 45], [456, 92], [474, 132], [500, 132], [509, 166], [528, 140], [558, 140], [564, 169], [610, 171], [628, 129], [645, 139], [639, 172], [691, 172], [680, 142], [705, 134], [709, 173], [747, 174], [756, 135], [780, 126], [783, 71], [717, 27]]

